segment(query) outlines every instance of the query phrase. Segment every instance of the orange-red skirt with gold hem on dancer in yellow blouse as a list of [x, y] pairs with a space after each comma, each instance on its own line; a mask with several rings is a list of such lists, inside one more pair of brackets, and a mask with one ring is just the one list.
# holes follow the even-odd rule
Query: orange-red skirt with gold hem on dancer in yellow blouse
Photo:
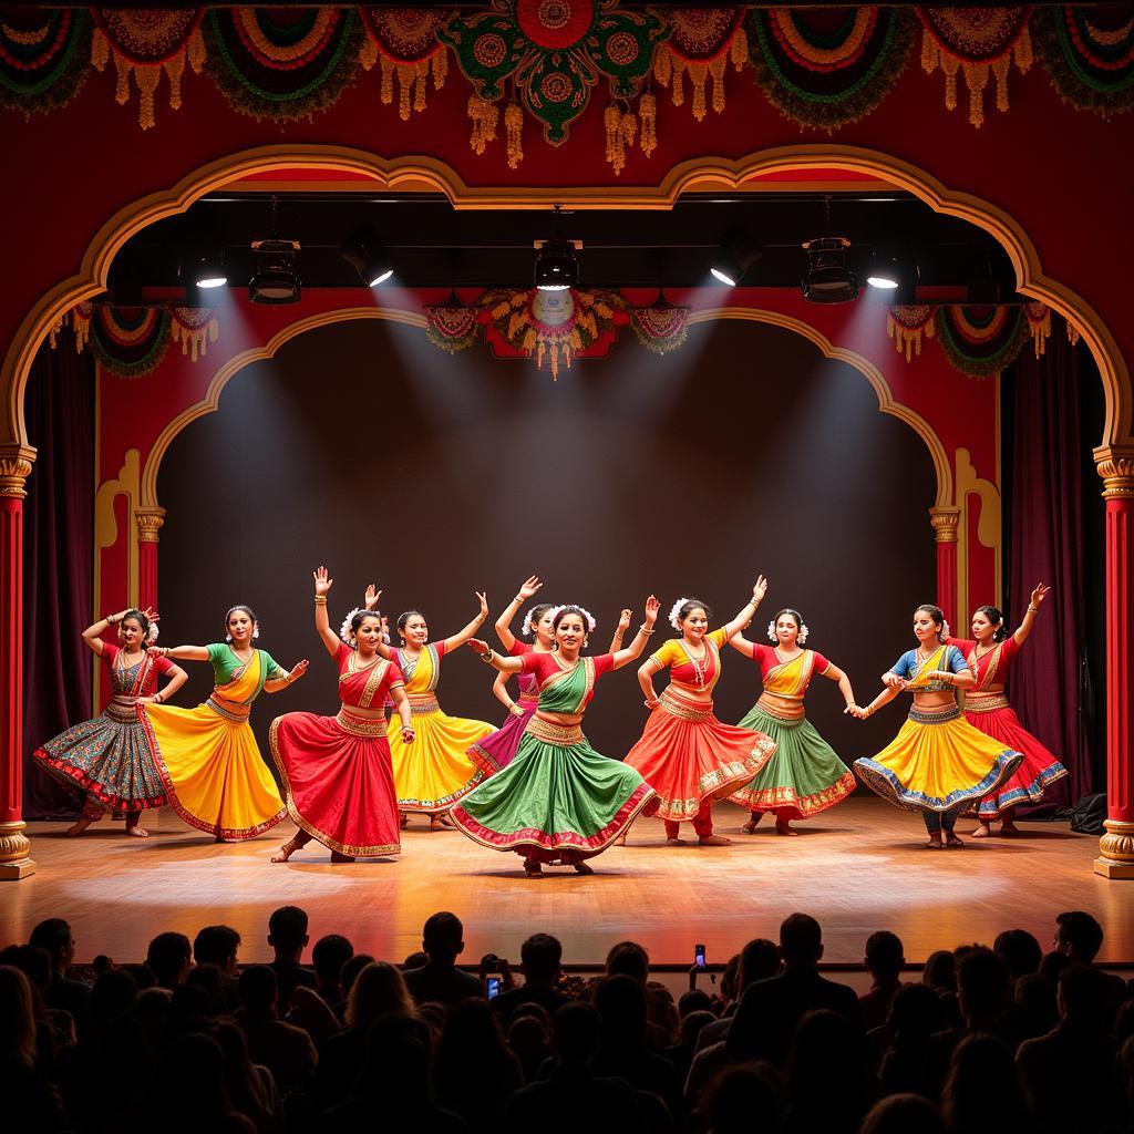
[[776, 742], [764, 733], [723, 725], [712, 708], [670, 687], [646, 721], [626, 763], [658, 793], [660, 819], [694, 819], [706, 801], [731, 795], [768, 763]]

